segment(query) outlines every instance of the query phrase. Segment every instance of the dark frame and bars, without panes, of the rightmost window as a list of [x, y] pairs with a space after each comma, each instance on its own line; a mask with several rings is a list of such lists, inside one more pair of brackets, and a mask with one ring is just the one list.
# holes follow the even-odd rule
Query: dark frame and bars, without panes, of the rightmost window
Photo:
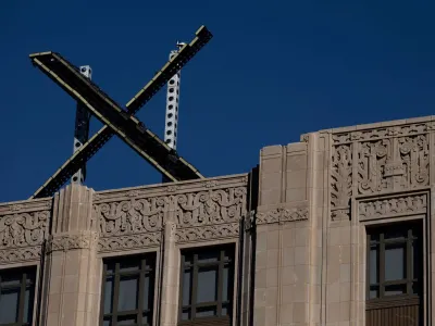
[[[385, 239], [385, 234], [394, 230], [401, 230], [403, 233], [405, 238], [391, 238]], [[372, 241], [372, 237], [376, 236], [377, 240]], [[423, 223], [421, 220], [406, 221], [406, 222], [396, 222], [391, 224], [385, 225], [375, 225], [366, 227], [366, 277], [365, 277], [365, 301], [370, 304], [376, 304], [380, 302], [395, 302], [397, 304], [398, 300], [409, 300], [409, 299], [421, 299], [422, 290], [423, 290], [423, 267], [424, 260], [420, 258], [418, 260], [418, 275], [414, 275], [414, 266], [415, 266], [415, 256], [413, 255], [413, 247], [417, 244], [417, 252], [423, 253]], [[372, 246], [377, 247], [377, 283], [371, 283], [371, 260], [370, 252]], [[405, 247], [405, 262], [403, 262], [403, 272], [405, 277], [401, 279], [395, 280], [386, 280], [385, 278], [385, 252], [386, 246], [390, 244], [401, 244]], [[403, 286], [406, 291], [399, 294], [385, 294], [385, 289], [388, 286]], [[413, 291], [413, 286], [417, 286], [417, 291]], [[370, 292], [372, 286], [377, 287], [377, 296], [376, 298], [370, 298]]]

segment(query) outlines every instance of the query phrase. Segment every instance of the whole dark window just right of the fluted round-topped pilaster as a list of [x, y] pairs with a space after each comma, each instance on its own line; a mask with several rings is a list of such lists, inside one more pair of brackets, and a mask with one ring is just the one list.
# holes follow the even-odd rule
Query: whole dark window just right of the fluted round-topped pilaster
[[101, 324], [152, 325], [156, 254], [104, 260]]

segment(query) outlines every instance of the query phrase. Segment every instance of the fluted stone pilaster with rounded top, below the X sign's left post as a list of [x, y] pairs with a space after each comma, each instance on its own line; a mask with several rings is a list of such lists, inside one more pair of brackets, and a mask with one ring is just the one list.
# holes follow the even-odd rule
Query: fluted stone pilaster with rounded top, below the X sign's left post
[[101, 260], [92, 193], [87, 187], [70, 185], [54, 197], [46, 244], [42, 325], [98, 325]]

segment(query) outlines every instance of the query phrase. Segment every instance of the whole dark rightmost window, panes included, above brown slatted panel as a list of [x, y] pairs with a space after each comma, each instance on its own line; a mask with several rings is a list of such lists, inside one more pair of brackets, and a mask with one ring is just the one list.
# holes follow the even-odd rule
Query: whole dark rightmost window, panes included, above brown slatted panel
[[421, 293], [421, 223], [368, 228], [368, 300]]

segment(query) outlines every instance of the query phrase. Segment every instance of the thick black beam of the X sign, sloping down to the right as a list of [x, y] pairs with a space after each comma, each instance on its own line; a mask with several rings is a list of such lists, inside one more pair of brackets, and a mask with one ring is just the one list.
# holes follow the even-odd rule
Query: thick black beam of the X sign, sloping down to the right
[[[177, 158], [172, 149], [109, 96], [96, 89], [78, 70], [60, 54], [49, 52], [33, 58], [35, 65], [75, 100], [112, 129], [139, 155], [173, 181], [201, 178], [199, 172]], [[172, 158], [171, 158], [172, 155]], [[173, 165], [171, 171], [166, 166]]]

